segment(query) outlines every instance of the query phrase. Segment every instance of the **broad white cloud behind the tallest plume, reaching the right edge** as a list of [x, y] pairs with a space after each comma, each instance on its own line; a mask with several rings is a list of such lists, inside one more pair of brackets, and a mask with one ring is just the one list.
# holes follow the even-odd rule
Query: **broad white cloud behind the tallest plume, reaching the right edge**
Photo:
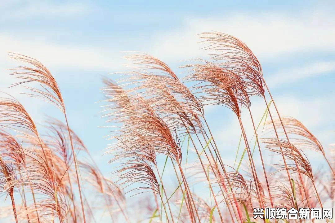
[[231, 13], [224, 17], [185, 18], [179, 29], [152, 36], [152, 52], [166, 58], [188, 59], [202, 56], [195, 36], [204, 31], [220, 31], [244, 41], [261, 59], [274, 59], [295, 52], [335, 49], [335, 19], [327, 10], [308, 10], [288, 15], [279, 12]]

